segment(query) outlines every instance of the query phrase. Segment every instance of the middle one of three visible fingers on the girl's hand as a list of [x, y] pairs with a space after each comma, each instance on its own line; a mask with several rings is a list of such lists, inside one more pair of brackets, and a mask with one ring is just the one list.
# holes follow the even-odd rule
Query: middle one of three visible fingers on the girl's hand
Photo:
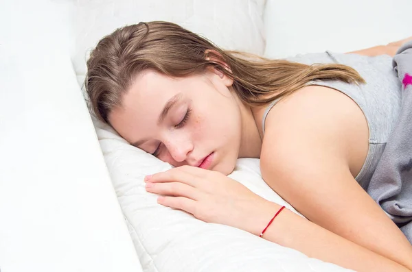
[[146, 183], [146, 190], [159, 195], [187, 197], [194, 200], [198, 200], [198, 196], [201, 194], [198, 189], [181, 182], [148, 182]]

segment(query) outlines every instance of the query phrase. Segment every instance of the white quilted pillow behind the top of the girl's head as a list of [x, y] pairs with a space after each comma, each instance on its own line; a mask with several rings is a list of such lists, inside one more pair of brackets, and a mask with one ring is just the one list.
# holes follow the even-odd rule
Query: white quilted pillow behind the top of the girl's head
[[266, 0], [107, 0], [77, 1], [73, 64], [82, 83], [89, 51], [115, 29], [140, 21], [171, 21], [225, 49], [262, 55], [262, 14]]

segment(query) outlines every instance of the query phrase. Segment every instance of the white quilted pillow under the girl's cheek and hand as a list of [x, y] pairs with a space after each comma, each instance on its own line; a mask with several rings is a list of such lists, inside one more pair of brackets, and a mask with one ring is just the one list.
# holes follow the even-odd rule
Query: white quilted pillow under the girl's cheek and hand
[[[347, 271], [249, 232], [205, 223], [161, 206], [156, 195], [146, 192], [144, 176], [170, 169], [170, 165], [129, 145], [108, 125], [95, 121], [95, 129], [145, 272]], [[295, 211], [262, 180], [259, 160], [238, 160], [230, 177]]]

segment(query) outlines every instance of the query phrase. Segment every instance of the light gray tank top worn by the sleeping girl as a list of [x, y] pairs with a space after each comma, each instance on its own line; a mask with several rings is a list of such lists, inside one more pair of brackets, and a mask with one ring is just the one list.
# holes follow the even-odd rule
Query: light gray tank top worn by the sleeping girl
[[[401, 86], [396, 72], [392, 69], [392, 58], [389, 55], [367, 57], [326, 51], [325, 53], [297, 55], [294, 58], [288, 58], [288, 60], [304, 64], [345, 64], [356, 69], [365, 79], [366, 84], [360, 86], [340, 81], [314, 81], [310, 82], [309, 85], [326, 86], [343, 92], [354, 100], [365, 114], [369, 126], [369, 150], [365, 163], [356, 176], [356, 181], [367, 190], [371, 176], [374, 174], [389, 134], [391, 134], [400, 113]], [[273, 101], [264, 112], [263, 133], [266, 116], [276, 102]]]

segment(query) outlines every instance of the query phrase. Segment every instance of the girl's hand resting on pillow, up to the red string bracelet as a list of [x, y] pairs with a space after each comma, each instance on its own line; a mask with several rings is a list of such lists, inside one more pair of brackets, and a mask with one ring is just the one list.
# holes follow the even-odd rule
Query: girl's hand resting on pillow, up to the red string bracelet
[[158, 203], [197, 219], [259, 235], [279, 205], [217, 171], [180, 166], [145, 178], [146, 190], [162, 195]]

